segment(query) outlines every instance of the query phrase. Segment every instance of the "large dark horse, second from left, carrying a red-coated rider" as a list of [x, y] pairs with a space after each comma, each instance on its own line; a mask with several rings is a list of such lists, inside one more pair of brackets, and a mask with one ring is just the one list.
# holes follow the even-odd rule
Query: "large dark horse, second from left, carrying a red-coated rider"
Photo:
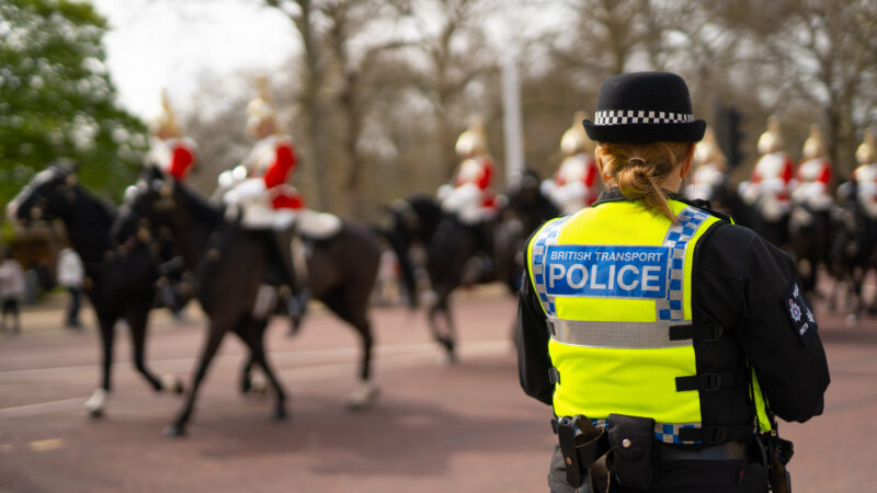
[[[267, 236], [274, 232], [243, 229], [227, 220], [224, 209], [153, 167], [145, 169], [127, 208], [126, 218], [117, 226], [119, 234], [125, 236], [126, 230], [129, 234], [130, 225], [167, 228], [186, 265], [195, 273], [197, 297], [209, 318], [186, 402], [164, 434], [185, 434], [202, 380], [229, 331], [240, 336], [250, 349], [241, 389], [249, 387], [249, 369], [258, 364], [275, 391], [273, 417], [285, 417], [285, 392], [267, 363], [263, 343], [272, 302], [260, 295], [265, 293], [262, 288], [274, 268], [267, 251], [269, 241], [273, 241]], [[307, 279], [311, 294], [353, 325], [361, 337], [361, 382], [349, 402], [353, 409], [363, 409], [379, 393], [371, 380], [373, 337], [367, 305], [380, 250], [368, 229], [348, 221], [335, 236], [309, 243]]]

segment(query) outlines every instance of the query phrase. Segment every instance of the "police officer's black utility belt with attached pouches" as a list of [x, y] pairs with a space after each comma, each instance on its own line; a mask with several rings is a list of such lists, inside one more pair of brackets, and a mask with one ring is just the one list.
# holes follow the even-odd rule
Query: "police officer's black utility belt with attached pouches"
[[[610, 414], [605, 428], [596, 427], [583, 415], [554, 420], [560, 452], [566, 462], [567, 482], [579, 488], [586, 470], [592, 481], [596, 474], [612, 473], [625, 486], [648, 490], [656, 465], [683, 460], [745, 460], [752, 426], [716, 428], [721, 433], [701, 433], [715, 440], [704, 440], [703, 448], [682, 448], [656, 440], [654, 420], [650, 417]], [[738, 429], [739, 428], [739, 429]], [[693, 428], [709, 431], [713, 428]], [[745, 434], [748, 433], [748, 437]], [[740, 436], [737, 436], [740, 435]], [[593, 485], [592, 485], [593, 486]]]

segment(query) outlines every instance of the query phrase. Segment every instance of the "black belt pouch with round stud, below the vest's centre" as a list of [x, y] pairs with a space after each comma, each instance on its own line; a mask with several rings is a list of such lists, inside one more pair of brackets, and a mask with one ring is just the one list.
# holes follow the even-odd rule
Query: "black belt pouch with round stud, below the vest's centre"
[[654, 420], [610, 414], [610, 470], [626, 488], [648, 490], [654, 477]]

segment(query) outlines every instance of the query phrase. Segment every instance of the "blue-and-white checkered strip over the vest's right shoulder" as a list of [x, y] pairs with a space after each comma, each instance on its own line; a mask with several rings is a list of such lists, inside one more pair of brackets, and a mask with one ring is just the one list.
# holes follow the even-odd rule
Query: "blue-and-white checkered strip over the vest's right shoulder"
[[707, 213], [685, 207], [676, 216], [677, 222], [670, 227], [664, 237], [663, 246], [670, 248], [670, 270], [668, 275], [667, 298], [656, 300], [659, 321], [685, 320], [683, 300], [683, 279], [685, 277], [685, 249], [701, 225], [709, 217]]

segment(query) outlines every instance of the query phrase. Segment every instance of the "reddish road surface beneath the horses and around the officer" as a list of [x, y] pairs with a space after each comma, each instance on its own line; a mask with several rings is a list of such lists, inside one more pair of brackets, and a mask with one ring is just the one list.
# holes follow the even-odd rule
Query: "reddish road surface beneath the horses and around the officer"
[[[23, 335], [0, 336], [0, 491], [547, 491], [551, 410], [517, 385], [514, 298], [489, 287], [462, 291], [454, 306], [454, 366], [442, 363], [422, 312], [373, 310], [383, 393], [360, 412], [345, 405], [358, 341], [319, 307], [295, 337], [283, 319], [269, 329], [270, 362], [291, 395], [286, 421], [270, 420], [270, 394], [239, 393], [244, 352], [228, 337], [189, 435], [175, 439], [161, 432], [182, 399], [149, 390], [124, 328], [114, 392], [92, 420], [82, 403], [99, 381], [95, 332], [59, 329], [58, 307], [30, 309]], [[181, 324], [155, 312], [147, 355], [153, 371], [186, 383], [205, 332], [196, 308], [187, 316]], [[877, 320], [851, 325], [824, 309], [818, 320], [832, 383], [822, 416], [781, 427], [795, 442], [794, 489], [877, 491]]]

